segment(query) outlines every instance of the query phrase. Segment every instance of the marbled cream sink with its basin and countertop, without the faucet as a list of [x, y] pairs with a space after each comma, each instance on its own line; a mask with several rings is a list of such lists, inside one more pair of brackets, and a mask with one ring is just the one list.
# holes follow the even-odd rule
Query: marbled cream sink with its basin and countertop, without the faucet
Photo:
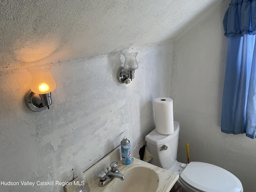
[[[179, 178], [178, 174], [136, 158], [132, 158], [131, 164], [124, 165], [120, 160], [119, 150], [120, 147], [84, 172], [91, 192], [169, 192]], [[97, 174], [102, 170], [107, 172], [106, 166], [112, 161], [118, 162], [117, 168], [125, 178], [114, 178], [106, 186], [100, 187]], [[65, 186], [65, 192], [73, 192], [74, 187]]]

